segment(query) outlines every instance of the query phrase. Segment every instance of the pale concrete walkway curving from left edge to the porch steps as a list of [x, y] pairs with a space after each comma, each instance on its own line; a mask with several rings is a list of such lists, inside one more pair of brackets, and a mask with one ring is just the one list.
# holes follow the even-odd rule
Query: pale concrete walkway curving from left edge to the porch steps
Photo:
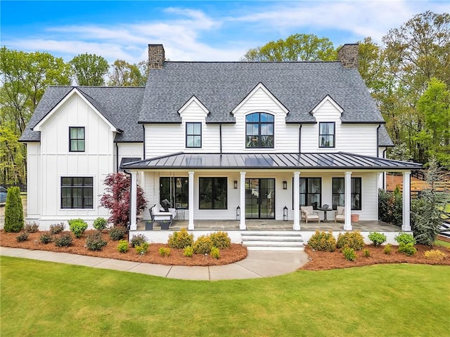
[[248, 257], [229, 265], [210, 267], [188, 267], [183, 265], [153, 265], [113, 258], [96, 258], [53, 251], [34, 251], [30, 249], [8, 248], [0, 246], [0, 256], [32, 258], [34, 260], [84, 265], [124, 272], [168, 277], [171, 279], [191, 279], [217, 281], [219, 279], [254, 279], [272, 277], [294, 272], [308, 262], [304, 251], [248, 251]]

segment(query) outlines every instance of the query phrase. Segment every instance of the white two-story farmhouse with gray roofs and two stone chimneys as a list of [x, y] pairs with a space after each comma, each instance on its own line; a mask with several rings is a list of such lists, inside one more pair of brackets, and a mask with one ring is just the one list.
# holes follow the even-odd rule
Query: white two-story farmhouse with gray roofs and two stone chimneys
[[302, 206], [332, 221], [344, 206], [342, 229], [352, 230], [351, 214], [378, 220], [384, 172], [397, 171], [411, 230], [409, 179], [421, 166], [384, 158], [393, 144], [357, 70], [357, 44], [336, 62], [169, 62], [160, 44], [148, 55], [145, 88], [46, 90], [21, 138], [29, 220], [107, 217], [103, 180], [124, 170], [149, 208], [168, 199], [189, 230], [233, 220], [229, 229], [243, 232], [262, 219], [297, 231]]

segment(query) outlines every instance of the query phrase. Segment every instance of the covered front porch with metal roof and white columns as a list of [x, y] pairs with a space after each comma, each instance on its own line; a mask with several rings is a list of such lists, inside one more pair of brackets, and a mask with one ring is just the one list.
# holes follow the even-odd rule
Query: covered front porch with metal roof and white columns
[[[187, 227], [188, 230], [199, 232], [245, 232], [254, 229], [299, 232], [314, 232], [316, 229], [378, 231], [378, 188], [383, 187], [385, 171], [403, 174], [406, 188], [403, 192], [401, 230], [410, 231], [410, 191], [407, 187], [410, 185], [411, 170], [420, 167], [416, 163], [347, 152], [179, 152], [121, 166], [131, 173], [131, 209], [136, 208], [138, 176], [143, 177], [141, 184], [146, 186], [146, 197], [150, 196], [150, 207], [164, 199], [160, 190], [164, 185], [162, 179], [183, 180], [185, 194], [182, 199], [184, 204], [179, 204], [181, 209], [178, 209], [176, 197], [174, 200], [176, 211], [183, 213], [181, 219], [184, 220], [175, 221], [172, 229]], [[202, 187], [202, 182], [213, 183], [213, 180], [221, 181], [220, 195], [208, 194], [205, 190], [206, 183]], [[359, 182], [357, 191], [353, 190], [354, 181]], [[304, 190], [305, 186], [311, 187], [311, 190]], [[335, 186], [339, 186], [336, 191]], [[172, 191], [176, 188], [174, 185]], [[210, 197], [210, 204], [205, 202], [205, 197]], [[219, 207], [214, 208], [214, 202]], [[312, 205], [314, 211], [326, 208], [331, 213], [328, 214], [328, 220], [331, 221], [304, 223], [300, 213], [302, 205]], [[337, 206], [345, 207], [343, 223], [333, 221], [333, 212]], [[359, 216], [361, 221], [352, 222], [353, 215]], [[144, 214], [144, 219], [146, 216]], [[283, 221], [285, 218], [288, 221]], [[134, 212], [131, 212], [130, 220], [131, 230], [139, 230]], [[386, 228], [387, 230], [383, 228], [379, 231], [394, 232], [389, 226]]]

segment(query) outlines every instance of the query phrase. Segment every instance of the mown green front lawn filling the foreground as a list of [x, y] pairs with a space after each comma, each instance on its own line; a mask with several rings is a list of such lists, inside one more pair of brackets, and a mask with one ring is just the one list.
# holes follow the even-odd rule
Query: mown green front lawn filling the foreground
[[[200, 282], [2, 256], [1, 336], [446, 336], [450, 267]], [[413, 332], [412, 332], [413, 331]]]

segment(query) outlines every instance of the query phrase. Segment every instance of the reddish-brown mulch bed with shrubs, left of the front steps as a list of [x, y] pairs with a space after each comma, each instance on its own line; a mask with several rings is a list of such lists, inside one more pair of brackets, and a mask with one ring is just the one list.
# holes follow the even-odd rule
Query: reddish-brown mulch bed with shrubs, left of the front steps
[[[229, 249], [220, 250], [220, 258], [212, 258], [209, 254], [207, 256], [200, 254], [193, 254], [191, 258], [183, 255], [183, 249], [170, 249], [170, 255], [160, 256], [160, 247], [167, 247], [167, 244], [150, 244], [148, 252], [141, 256], [136, 253], [134, 248], [129, 247], [127, 253], [120, 253], [117, 251], [117, 241], [113, 241], [107, 232], [103, 232], [103, 239], [108, 242], [101, 251], [90, 251], [86, 248], [87, 235], [96, 232], [96, 230], [86, 230], [82, 237], [77, 239], [72, 235], [72, 245], [69, 247], [57, 247], [53, 242], [49, 244], [41, 244], [39, 237], [43, 232], [30, 233], [27, 241], [18, 242], [16, 237], [18, 233], [6, 233], [0, 230], [0, 246], [14, 247], [23, 249], [38, 249], [41, 251], [57, 251], [64, 253], [72, 253], [87, 256], [97, 256], [99, 258], [115, 258], [117, 260], [128, 260], [141, 263], [156, 263], [158, 265], [227, 265], [247, 257], [247, 249], [241, 244], [231, 244]], [[70, 232], [64, 232], [70, 233]], [[127, 239], [125, 237], [124, 239]]]

